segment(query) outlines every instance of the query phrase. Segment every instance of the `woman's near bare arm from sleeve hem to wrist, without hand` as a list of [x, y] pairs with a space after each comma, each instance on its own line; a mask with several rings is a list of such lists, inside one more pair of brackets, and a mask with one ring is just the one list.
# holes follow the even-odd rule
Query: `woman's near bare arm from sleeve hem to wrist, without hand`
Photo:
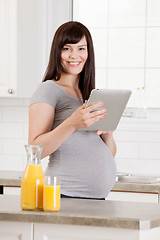
[[42, 158], [54, 152], [74, 131], [67, 121], [51, 131], [54, 115], [54, 108], [46, 103], [36, 103], [29, 108], [28, 143], [43, 145]]

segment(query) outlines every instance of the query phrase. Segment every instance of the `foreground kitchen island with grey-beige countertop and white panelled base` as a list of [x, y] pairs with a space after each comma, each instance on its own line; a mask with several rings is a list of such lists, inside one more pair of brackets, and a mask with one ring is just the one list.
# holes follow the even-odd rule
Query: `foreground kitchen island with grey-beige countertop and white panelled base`
[[15, 234], [22, 240], [159, 240], [160, 205], [64, 198], [51, 213], [23, 211], [20, 196], [1, 195], [0, 239]]

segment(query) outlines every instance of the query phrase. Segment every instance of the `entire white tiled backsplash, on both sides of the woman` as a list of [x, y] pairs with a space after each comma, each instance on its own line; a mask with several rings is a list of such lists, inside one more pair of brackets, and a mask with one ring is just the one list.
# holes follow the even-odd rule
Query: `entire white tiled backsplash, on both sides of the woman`
[[[0, 99], [0, 170], [24, 170], [28, 105], [29, 99]], [[148, 119], [122, 118], [115, 140], [118, 172], [160, 176], [160, 109], [148, 110]]]

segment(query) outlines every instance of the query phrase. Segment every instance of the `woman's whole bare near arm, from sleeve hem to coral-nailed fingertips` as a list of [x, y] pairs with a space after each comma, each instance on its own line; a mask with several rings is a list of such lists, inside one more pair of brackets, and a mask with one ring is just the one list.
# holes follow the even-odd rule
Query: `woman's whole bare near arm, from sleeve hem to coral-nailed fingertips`
[[32, 145], [43, 145], [42, 158], [56, 151], [61, 144], [79, 128], [85, 128], [100, 120], [104, 110], [90, 113], [94, 108], [101, 106], [96, 103], [85, 108], [86, 103], [77, 108], [73, 114], [64, 120], [58, 127], [51, 130], [55, 110], [47, 103], [35, 103], [29, 108], [29, 139]]

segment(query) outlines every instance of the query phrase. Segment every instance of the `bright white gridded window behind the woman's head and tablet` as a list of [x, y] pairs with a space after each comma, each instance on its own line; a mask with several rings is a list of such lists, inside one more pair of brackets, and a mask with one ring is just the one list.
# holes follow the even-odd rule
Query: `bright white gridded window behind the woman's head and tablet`
[[73, 0], [73, 19], [93, 37], [96, 87], [131, 89], [130, 107], [142, 87], [147, 106], [160, 107], [159, 12], [159, 0]]

